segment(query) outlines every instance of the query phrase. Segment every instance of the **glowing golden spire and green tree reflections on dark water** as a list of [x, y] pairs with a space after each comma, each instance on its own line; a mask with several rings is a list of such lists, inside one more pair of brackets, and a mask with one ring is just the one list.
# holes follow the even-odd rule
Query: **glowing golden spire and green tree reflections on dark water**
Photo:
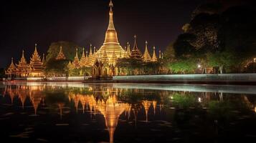
[[[85, 114], [90, 120], [105, 122], [108, 129], [109, 141], [114, 141], [118, 120], [125, 119], [129, 124], [153, 122], [154, 119], [164, 119], [169, 109], [195, 109], [207, 107], [209, 102], [221, 105], [227, 100], [228, 94], [214, 92], [166, 92], [148, 91], [146, 89], [120, 89], [111, 84], [87, 84], [86, 87], [58, 87], [50, 84], [20, 84], [4, 85], [3, 97], [11, 106], [19, 105], [24, 108], [33, 107], [34, 114], [38, 110], [52, 110], [58, 121], [70, 118], [70, 112]], [[191, 98], [190, 98], [191, 97]], [[230, 98], [230, 97], [229, 97]], [[253, 112], [256, 111], [255, 98], [241, 94], [240, 102], [247, 105]], [[45, 102], [45, 105], [44, 105]], [[41, 108], [42, 106], [48, 108]], [[171, 108], [169, 108], [171, 107]], [[169, 111], [168, 111], [169, 110]], [[50, 111], [52, 113], [52, 111]], [[182, 112], [176, 110], [175, 112]], [[85, 116], [83, 116], [85, 117]], [[104, 117], [100, 121], [97, 117]], [[163, 118], [162, 118], [163, 117]], [[39, 118], [39, 116], [37, 117]], [[103, 118], [101, 118], [103, 119]], [[120, 124], [120, 123], [119, 123]], [[123, 123], [122, 123], [123, 124]]]

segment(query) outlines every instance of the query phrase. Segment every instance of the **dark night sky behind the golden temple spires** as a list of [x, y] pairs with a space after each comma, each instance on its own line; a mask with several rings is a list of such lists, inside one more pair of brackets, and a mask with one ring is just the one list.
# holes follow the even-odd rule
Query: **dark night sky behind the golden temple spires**
[[[181, 26], [189, 22], [191, 12], [204, 0], [113, 0], [114, 23], [122, 46], [133, 45], [133, 35], [144, 51], [145, 40], [150, 48], [165, 47], [181, 34]], [[18, 61], [34, 51], [46, 53], [53, 41], [73, 41], [80, 46], [103, 44], [108, 26], [109, 0], [34, 0], [1, 1], [0, 67], [11, 57]]]

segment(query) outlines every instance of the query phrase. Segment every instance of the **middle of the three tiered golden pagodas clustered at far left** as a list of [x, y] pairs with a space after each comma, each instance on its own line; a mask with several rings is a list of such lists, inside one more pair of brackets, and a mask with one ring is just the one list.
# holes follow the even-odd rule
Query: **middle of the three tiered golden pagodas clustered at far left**
[[27, 77], [30, 72], [30, 66], [24, 57], [24, 50], [22, 51], [22, 58], [19, 60], [19, 64], [16, 64], [16, 74], [19, 77]]

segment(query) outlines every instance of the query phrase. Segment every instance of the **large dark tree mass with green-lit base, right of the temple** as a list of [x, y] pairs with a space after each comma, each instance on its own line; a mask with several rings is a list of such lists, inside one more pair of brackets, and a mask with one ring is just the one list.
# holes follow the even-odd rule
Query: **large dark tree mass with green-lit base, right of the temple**
[[175, 73], [193, 71], [196, 62], [205, 71], [216, 67], [220, 73], [241, 72], [247, 61], [256, 56], [255, 25], [256, 12], [248, 6], [199, 6], [183, 26], [185, 33], [167, 47], [164, 65]]

